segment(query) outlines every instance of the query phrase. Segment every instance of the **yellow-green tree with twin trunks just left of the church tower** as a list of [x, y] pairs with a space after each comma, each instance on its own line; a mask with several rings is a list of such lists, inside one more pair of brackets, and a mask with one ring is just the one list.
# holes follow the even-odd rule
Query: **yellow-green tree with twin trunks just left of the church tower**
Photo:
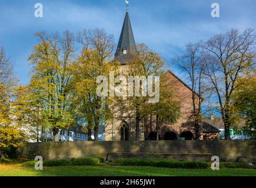
[[78, 42], [82, 44], [82, 52], [77, 61], [71, 66], [72, 110], [77, 122], [85, 125], [88, 140], [94, 130], [94, 140], [98, 140], [99, 126], [103, 125], [110, 116], [106, 96], [97, 95], [97, 78], [109, 76], [109, 72], [118, 68], [112, 60], [114, 40], [102, 29], [85, 30], [78, 35]]

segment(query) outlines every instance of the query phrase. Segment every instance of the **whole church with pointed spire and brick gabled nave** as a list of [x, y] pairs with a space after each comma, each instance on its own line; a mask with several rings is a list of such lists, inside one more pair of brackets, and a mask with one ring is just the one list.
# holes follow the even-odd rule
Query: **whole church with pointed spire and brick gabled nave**
[[[115, 58], [121, 63], [121, 71], [128, 68], [127, 63], [132, 58], [131, 54], [134, 50], [136, 50], [135, 39], [127, 11], [115, 53]], [[193, 90], [171, 71], [167, 71], [165, 76], [168, 84], [174, 86], [175, 96], [178, 96], [181, 101], [181, 115], [176, 123], [161, 126], [159, 140], [192, 140], [195, 138], [195, 127], [192, 122]], [[198, 97], [198, 100], [202, 99]], [[135, 140], [135, 118], [121, 117], [118, 108], [114, 108], [113, 111], [113, 119], [105, 125], [105, 141]], [[141, 120], [139, 140], [156, 140], [155, 127], [154, 115], [149, 115]], [[210, 123], [203, 122], [202, 132], [203, 139], [212, 140], [219, 138], [220, 130]]]

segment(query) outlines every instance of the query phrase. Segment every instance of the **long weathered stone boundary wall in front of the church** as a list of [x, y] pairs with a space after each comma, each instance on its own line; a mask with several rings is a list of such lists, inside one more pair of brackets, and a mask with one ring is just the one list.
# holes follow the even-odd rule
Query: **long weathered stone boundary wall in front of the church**
[[103, 157], [108, 153], [193, 153], [219, 156], [221, 161], [236, 161], [241, 157], [255, 159], [256, 140], [159, 140], [159, 141], [85, 141], [28, 143], [18, 155], [44, 160]]

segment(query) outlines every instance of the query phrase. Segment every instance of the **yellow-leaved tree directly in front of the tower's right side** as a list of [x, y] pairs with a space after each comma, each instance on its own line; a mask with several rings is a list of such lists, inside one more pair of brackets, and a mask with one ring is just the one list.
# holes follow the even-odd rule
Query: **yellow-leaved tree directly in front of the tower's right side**
[[[148, 76], [162, 76], [164, 75], [165, 63], [162, 61], [158, 53], [150, 50], [148, 46], [144, 44], [137, 45], [137, 51], [132, 54], [132, 59], [127, 63], [128, 76], [134, 76], [135, 78], [148, 78]], [[136, 83], [133, 85], [133, 94], [127, 98], [121, 98], [124, 100], [122, 103], [127, 105], [124, 108], [125, 114], [135, 117], [135, 140], [139, 140], [139, 123], [150, 112], [148, 111], [150, 96], [142, 96], [142, 87], [144, 80], [140, 80], [138, 83], [141, 85], [139, 89], [139, 96], [135, 95]], [[133, 82], [132, 82], [133, 83]], [[122, 104], [121, 102], [119, 104]]]

